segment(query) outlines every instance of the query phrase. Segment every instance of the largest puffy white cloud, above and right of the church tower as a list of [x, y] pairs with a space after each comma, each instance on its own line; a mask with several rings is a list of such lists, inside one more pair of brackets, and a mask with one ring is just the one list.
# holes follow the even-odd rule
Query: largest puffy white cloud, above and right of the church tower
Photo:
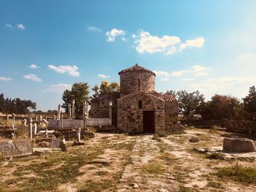
[[163, 37], [151, 36], [146, 31], [140, 31], [138, 39], [135, 41], [137, 44], [136, 50], [138, 53], [168, 53], [174, 51], [173, 45], [181, 42], [181, 39], [175, 36]]

